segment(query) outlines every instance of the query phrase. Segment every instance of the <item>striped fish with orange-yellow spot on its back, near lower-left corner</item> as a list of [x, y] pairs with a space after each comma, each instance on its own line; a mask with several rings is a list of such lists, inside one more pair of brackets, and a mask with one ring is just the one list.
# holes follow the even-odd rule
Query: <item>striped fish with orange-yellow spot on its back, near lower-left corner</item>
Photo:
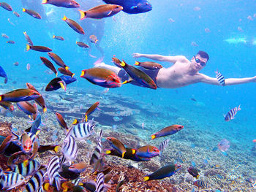
[[39, 162], [35, 160], [24, 161], [23, 163], [15, 165], [13, 172], [21, 174], [24, 177], [27, 177], [37, 172], [39, 167], [40, 167]]

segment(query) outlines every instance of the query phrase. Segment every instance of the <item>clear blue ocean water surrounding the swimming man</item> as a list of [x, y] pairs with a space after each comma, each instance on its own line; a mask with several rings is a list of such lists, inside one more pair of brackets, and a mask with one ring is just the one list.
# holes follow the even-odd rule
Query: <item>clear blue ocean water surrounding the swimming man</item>
[[[29, 1], [24, 6], [24, 1], [9, 0], [7, 3], [20, 14], [17, 18], [12, 12], [0, 9], [1, 33], [7, 34], [14, 45], [7, 44], [7, 39], [1, 38], [0, 65], [7, 72], [9, 82], [4, 84], [1, 78], [2, 88], [24, 88], [26, 82], [47, 84], [53, 78], [53, 74], [46, 74], [47, 69], [40, 61], [40, 56], [48, 57], [46, 53], [34, 50], [26, 52], [26, 39], [23, 31], [31, 37], [34, 45], [44, 45], [53, 49], [64, 60], [78, 81], [69, 85], [68, 89], [83, 88], [103, 91], [97, 85], [92, 85], [87, 80], [80, 78], [82, 69], [93, 67], [95, 61], [102, 56], [97, 47], [91, 46], [89, 51], [75, 45], [80, 35], [69, 28], [61, 18], [67, 18], [83, 23], [86, 36], [97, 35], [100, 39], [100, 47], [104, 50], [105, 64], [112, 64], [111, 58], [124, 59], [128, 64], [134, 64], [132, 53], [148, 53], [160, 55], [185, 55], [189, 60], [199, 50], [206, 51], [210, 59], [202, 73], [215, 77], [218, 69], [225, 78], [253, 77], [256, 75], [255, 40], [256, 18], [254, 1], [156, 1], [151, 0], [153, 9], [138, 15], [128, 15], [119, 12], [112, 18], [103, 20], [79, 21], [78, 9], [65, 9], [42, 5], [41, 1]], [[23, 2], [23, 4], [22, 4]], [[82, 7], [91, 8], [102, 1], [79, 1]], [[42, 12], [42, 20], [32, 18], [22, 12], [22, 7], [35, 9]], [[249, 15], [251, 18], [248, 18]], [[10, 20], [10, 21], [8, 21]], [[13, 25], [11, 24], [13, 23]], [[87, 24], [87, 26], [86, 26]], [[208, 30], [206, 29], [208, 28]], [[89, 33], [88, 33], [89, 31]], [[65, 41], [53, 39], [52, 36], [62, 36]], [[244, 38], [246, 42], [229, 43], [227, 39]], [[84, 42], [89, 43], [84, 38]], [[195, 42], [198, 46], [193, 46]], [[195, 44], [194, 44], [195, 45]], [[19, 62], [18, 66], [13, 63]], [[138, 61], [147, 61], [139, 58]], [[26, 65], [31, 69], [27, 70]], [[161, 63], [164, 67], [171, 64]], [[17, 84], [13, 83], [14, 81]], [[140, 88], [134, 85], [122, 85], [121, 88], [110, 89], [110, 94], [121, 94], [132, 97], [135, 101], [143, 101], [145, 104], [153, 104], [155, 114], [143, 115], [142, 122], [151, 118], [154, 121], [154, 131], [163, 128], [162, 119], [169, 120], [170, 124], [185, 123], [186, 134], [193, 134], [210, 143], [189, 143], [211, 150], [222, 139], [230, 141], [230, 149], [241, 154], [241, 164], [246, 161], [255, 161], [253, 139], [256, 139], [255, 131], [255, 94], [254, 82], [243, 85], [216, 86], [197, 83], [184, 88], [164, 89], [156, 91], [148, 88]], [[50, 94], [50, 93], [49, 93]], [[195, 99], [196, 101], [192, 101]], [[224, 121], [224, 116], [233, 107], [241, 104], [241, 111], [230, 122]], [[79, 104], [78, 104], [79, 105]], [[172, 108], [177, 109], [173, 112]], [[177, 115], [179, 118], [173, 118]], [[184, 121], [187, 120], [187, 121]], [[169, 126], [169, 125], [166, 125]], [[148, 136], [150, 134], [148, 133]], [[177, 140], [182, 141], [178, 137]], [[228, 151], [227, 151], [228, 154]], [[244, 158], [246, 155], [246, 158]], [[223, 157], [225, 158], [225, 156]], [[197, 164], [197, 162], [196, 162]], [[237, 164], [237, 162], [235, 163]], [[255, 164], [250, 167], [255, 176]]]

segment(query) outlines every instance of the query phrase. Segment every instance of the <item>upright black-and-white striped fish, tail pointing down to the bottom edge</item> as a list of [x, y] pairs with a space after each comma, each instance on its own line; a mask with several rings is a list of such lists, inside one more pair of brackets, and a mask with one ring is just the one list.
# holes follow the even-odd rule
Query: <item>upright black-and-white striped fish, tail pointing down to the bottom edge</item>
[[53, 181], [55, 180], [58, 191], [61, 188], [60, 176], [58, 172], [59, 168], [59, 157], [57, 155], [54, 155], [52, 158], [50, 158], [50, 162], [47, 167], [47, 174], [50, 185], [53, 185]]

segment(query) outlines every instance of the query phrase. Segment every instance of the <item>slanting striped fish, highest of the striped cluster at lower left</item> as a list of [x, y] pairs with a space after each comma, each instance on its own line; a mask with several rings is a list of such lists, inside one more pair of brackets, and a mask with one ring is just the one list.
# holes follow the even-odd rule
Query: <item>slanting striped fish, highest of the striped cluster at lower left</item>
[[77, 140], [83, 140], [89, 137], [93, 131], [95, 123], [93, 120], [89, 120], [88, 122], [78, 123], [73, 128], [69, 130], [67, 137], [71, 135]]

